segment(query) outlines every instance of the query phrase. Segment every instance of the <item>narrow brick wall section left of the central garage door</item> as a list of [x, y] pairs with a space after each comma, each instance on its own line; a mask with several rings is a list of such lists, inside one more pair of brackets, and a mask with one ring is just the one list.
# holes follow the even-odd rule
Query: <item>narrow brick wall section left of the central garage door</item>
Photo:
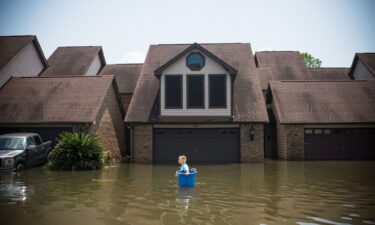
[[152, 163], [152, 125], [135, 124], [133, 127], [133, 160]]

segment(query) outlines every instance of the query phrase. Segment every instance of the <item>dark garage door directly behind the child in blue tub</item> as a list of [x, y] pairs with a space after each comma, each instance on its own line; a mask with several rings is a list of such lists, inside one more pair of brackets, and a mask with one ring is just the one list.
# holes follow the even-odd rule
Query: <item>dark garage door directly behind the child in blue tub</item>
[[186, 155], [189, 163], [238, 163], [239, 141], [238, 128], [154, 129], [154, 162]]

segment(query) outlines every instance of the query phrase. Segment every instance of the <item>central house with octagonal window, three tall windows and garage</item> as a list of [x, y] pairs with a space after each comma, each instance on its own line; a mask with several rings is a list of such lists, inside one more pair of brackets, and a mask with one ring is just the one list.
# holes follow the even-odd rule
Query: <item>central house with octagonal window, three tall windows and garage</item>
[[151, 45], [125, 122], [142, 163], [261, 162], [268, 122], [250, 44]]

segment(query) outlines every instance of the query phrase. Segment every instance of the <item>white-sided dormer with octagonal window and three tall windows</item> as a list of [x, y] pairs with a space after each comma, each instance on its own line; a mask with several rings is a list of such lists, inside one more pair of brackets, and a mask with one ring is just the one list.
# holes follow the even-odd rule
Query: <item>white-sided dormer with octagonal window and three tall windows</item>
[[190, 45], [154, 74], [161, 116], [232, 116], [237, 70], [201, 45]]

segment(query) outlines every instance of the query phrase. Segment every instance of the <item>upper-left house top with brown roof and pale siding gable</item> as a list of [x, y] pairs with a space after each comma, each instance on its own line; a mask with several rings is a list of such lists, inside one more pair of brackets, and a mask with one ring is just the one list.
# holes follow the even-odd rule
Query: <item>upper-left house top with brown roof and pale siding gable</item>
[[38, 76], [48, 63], [34, 35], [0, 36], [0, 88], [12, 76]]

